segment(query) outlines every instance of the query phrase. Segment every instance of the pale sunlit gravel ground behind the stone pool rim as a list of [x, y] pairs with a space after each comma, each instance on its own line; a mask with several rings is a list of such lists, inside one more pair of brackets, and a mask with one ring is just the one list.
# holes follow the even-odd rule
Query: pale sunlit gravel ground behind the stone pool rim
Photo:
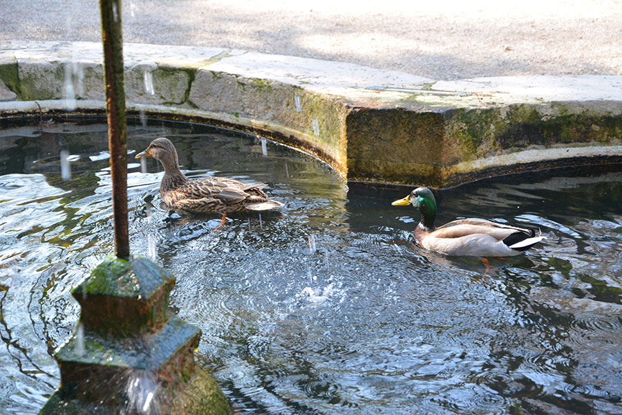
[[[622, 0], [125, 0], [125, 42], [255, 50], [435, 80], [622, 75]], [[0, 0], [10, 40], [100, 41], [96, 0]]]

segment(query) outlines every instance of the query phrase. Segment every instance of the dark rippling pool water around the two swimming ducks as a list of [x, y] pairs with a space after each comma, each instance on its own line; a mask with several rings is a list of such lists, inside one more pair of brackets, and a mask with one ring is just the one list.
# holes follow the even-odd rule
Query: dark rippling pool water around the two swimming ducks
[[[177, 276], [171, 306], [202, 329], [198, 360], [236, 413], [622, 414], [621, 172], [437, 193], [438, 223], [549, 238], [484, 275], [412, 245], [417, 212], [390, 205], [410, 188], [348, 190], [296, 151], [191, 124], [136, 122], [129, 149], [158, 136], [189, 176], [267, 183], [285, 203], [212, 232], [219, 215], [165, 210], [160, 165], [129, 158], [131, 250]], [[36, 414], [77, 322], [69, 291], [113, 252], [106, 126], [14, 127], [0, 143], [0, 413]]]

